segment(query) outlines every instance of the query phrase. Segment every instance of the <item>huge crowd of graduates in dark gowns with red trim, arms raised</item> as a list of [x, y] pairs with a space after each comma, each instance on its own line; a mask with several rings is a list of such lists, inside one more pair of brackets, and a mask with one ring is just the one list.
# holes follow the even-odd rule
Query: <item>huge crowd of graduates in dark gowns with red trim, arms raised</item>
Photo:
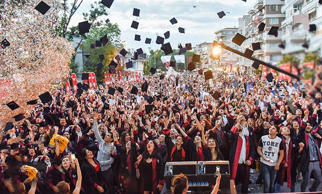
[[321, 91], [296, 80], [184, 73], [50, 93], [2, 133], [1, 193], [157, 194], [169, 161], [227, 160], [241, 193], [255, 170], [265, 193], [322, 181]]

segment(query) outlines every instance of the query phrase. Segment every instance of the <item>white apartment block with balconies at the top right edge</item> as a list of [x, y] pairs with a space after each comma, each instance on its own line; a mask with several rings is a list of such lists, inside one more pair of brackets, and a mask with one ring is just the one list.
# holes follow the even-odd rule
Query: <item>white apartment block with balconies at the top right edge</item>
[[[318, 0], [286, 0], [281, 11], [285, 14], [285, 20], [282, 21], [282, 41], [285, 49], [282, 54], [296, 55], [303, 60], [305, 53], [313, 52], [322, 55], [322, 5]], [[316, 25], [316, 32], [309, 32], [303, 27], [303, 24], [295, 24], [293, 16], [307, 14], [309, 24]], [[303, 43], [308, 48], [302, 46]]]

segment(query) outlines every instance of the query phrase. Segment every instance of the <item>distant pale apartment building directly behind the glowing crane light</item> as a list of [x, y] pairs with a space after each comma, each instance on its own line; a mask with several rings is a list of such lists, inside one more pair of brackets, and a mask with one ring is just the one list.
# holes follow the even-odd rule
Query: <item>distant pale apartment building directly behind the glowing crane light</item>
[[[237, 34], [238, 28], [224, 28], [215, 32], [215, 40], [218, 43], [224, 43], [227, 46], [232, 48], [238, 49], [238, 45], [232, 42], [232, 38]], [[220, 53], [220, 60], [219, 62], [215, 63], [215, 67], [221, 68], [230, 68], [232, 65], [233, 67], [237, 67], [238, 65], [238, 55], [227, 51], [222, 50]]]

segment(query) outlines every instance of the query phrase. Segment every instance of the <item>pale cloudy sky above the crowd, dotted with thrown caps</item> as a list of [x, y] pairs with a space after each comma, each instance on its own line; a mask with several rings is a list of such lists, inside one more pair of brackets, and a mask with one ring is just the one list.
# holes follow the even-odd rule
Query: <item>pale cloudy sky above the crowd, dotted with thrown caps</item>
[[[88, 12], [93, 2], [84, 0], [70, 25], [76, 26], [78, 22], [83, 22], [82, 13]], [[149, 49], [160, 49], [161, 45], [155, 43], [156, 37], [164, 37], [167, 31], [170, 31], [170, 38], [165, 39], [165, 43], [170, 42], [172, 48], [178, 48], [179, 43], [192, 43], [194, 47], [202, 42], [213, 42], [215, 31], [227, 27], [237, 28], [238, 18], [247, 15], [255, 2], [256, 0], [114, 0], [111, 8], [106, 8], [109, 15], [100, 19], [109, 19], [119, 25], [121, 41], [126, 41], [126, 49], [142, 48], [148, 53]], [[140, 17], [132, 16], [134, 8], [140, 10]], [[222, 19], [216, 14], [220, 11], [226, 13]], [[170, 23], [173, 17], [177, 19], [177, 24]], [[131, 28], [133, 20], [139, 22], [137, 30]], [[179, 27], [185, 28], [185, 34], [179, 33]], [[141, 35], [141, 41], [134, 40], [135, 34]], [[145, 44], [145, 38], [151, 38], [151, 44]]]

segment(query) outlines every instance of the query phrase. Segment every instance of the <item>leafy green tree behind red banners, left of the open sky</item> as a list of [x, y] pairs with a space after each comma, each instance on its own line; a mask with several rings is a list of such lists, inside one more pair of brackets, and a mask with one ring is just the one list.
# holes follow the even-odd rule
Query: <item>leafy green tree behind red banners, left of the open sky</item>
[[[96, 40], [99, 40], [104, 35], [107, 35], [109, 42], [102, 47], [91, 48], [91, 44], [95, 44]], [[89, 52], [89, 61], [91, 65], [89, 67], [84, 66], [85, 72], [94, 72], [98, 83], [104, 82], [104, 72], [108, 72], [111, 60], [115, 57], [117, 47], [115, 46], [120, 42], [121, 31], [117, 24], [105, 24], [102, 26], [96, 26], [90, 29], [85, 39], [83, 49]], [[101, 61], [100, 55], [104, 55], [104, 60]], [[97, 64], [103, 63], [101, 70], [97, 69]]]

